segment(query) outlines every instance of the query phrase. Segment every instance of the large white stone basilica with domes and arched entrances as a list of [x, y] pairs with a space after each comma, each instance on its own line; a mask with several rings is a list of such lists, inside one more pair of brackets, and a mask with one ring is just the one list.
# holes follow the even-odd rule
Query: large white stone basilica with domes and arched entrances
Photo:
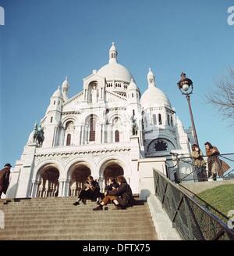
[[41, 119], [44, 142], [34, 132], [13, 168], [7, 197], [77, 195], [88, 175], [105, 189], [108, 177], [124, 175], [140, 193], [139, 160], [190, 153], [185, 131], [150, 69], [141, 95], [133, 75], [117, 61], [115, 44], [108, 64], [83, 78], [83, 90], [69, 98], [69, 82], [51, 96]]

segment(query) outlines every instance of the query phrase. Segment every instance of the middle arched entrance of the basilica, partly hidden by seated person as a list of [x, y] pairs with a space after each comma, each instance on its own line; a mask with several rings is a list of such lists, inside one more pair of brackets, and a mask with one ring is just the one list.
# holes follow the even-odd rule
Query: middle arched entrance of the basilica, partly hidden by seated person
[[73, 166], [73, 170], [71, 171], [69, 196], [78, 196], [80, 189], [83, 189], [83, 185], [87, 181], [89, 175], [91, 175], [91, 171], [90, 168], [87, 167], [87, 164], [81, 162]]

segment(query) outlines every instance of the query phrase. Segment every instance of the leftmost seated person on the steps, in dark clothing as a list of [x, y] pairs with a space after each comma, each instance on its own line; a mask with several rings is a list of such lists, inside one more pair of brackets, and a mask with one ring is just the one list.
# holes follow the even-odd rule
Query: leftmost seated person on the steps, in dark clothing
[[79, 205], [82, 200], [83, 204], [86, 204], [86, 200], [99, 200], [101, 196], [100, 186], [98, 182], [94, 181], [92, 176], [87, 177], [87, 183], [85, 184], [85, 189], [81, 190], [79, 197], [77, 198], [74, 205]]

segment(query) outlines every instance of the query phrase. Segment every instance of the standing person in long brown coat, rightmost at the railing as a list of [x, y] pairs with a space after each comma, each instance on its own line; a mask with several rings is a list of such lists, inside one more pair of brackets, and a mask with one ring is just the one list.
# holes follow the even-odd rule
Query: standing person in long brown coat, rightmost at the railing
[[208, 164], [208, 177], [211, 176], [214, 181], [218, 176], [222, 176], [225, 171], [229, 170], [229, 164], [226, 164], [225, 161], [219, 159], [219, 151], [216, 146], [212, 146], [210, 142], [204, 143], [207, 151], [207, 164]]

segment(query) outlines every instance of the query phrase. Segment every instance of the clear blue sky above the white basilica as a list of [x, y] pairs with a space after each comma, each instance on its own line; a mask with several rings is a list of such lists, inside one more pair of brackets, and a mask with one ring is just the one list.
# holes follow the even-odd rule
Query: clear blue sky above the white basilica
[[204, 95], [234, 66], [234, 26], [227, 23], [231, 0], [0, 0], [1, 151], [0, 164], [14, 164], [34, 121], [66, 76], [69, 96], [82, 79], [108, 62], [115, 41], [119, 63], [133, 74], [141, 92], [152, 67], [158, 88], [190, 125], [186, 99], [176, 82], [182, 70], [193, 80], [192, 106], [202, 150], [210, 141], [234, 152], [229, 122]]

